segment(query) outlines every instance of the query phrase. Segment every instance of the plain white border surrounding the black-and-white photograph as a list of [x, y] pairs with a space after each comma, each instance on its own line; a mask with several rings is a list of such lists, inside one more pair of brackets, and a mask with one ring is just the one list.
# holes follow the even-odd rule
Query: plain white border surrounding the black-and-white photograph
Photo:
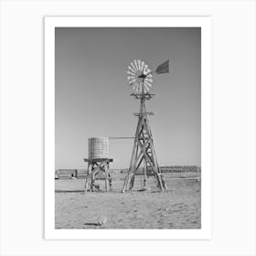
[[[55, 229], [55, 27], [201, 27], [201, 229]], [[209, 240], [211, 238], [211, 19], [170, 16], [45, 17], [45, 239]]]

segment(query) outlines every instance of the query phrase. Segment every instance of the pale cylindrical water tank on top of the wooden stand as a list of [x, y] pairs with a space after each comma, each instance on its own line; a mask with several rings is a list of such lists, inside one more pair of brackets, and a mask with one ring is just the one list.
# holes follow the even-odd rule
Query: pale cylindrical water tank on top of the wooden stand
[[109, 158], [110, 139], [107, 137], [97, 137], [88, 139], [88, 158]]

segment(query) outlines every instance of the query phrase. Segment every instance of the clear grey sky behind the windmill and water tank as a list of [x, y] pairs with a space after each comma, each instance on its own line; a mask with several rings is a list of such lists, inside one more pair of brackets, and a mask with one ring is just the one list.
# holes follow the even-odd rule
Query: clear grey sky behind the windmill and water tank
[[[89, 137], [134, 136], [139, 101], [126, 69], [142, 59], [154, 70], [147, 101], [158, 164], [201, 165], [199, 27], [57, 27], [55, 30], [56, 169], [86, 168]], [[133, 140], [111, 140], [111, 168], [128, 168]]]

